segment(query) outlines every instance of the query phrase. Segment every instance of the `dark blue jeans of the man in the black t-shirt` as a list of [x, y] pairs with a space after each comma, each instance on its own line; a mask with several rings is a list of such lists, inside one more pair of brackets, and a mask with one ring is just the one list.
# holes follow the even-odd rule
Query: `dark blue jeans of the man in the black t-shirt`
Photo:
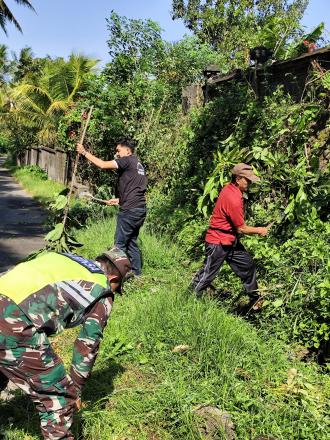
[[140, 275], [142, 270], [142, 256], [137, 238], [145, 218], [146, 208], [119, 211], [117, 216], [115, 245], [127, 253], [135, 275]]

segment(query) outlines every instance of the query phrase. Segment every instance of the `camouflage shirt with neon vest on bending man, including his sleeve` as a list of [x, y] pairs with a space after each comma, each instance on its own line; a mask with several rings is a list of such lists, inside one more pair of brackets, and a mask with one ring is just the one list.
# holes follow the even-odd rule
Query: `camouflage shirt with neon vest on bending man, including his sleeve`
[[[55, 335], [82, 324], [70, 371], [76, 387], [81, 389], [93, 367], [112, 308], [113, 293], [100, 267], [75, 255], [48, 253], [0, 277], [0, 300], [6, 311], [4, 317], [9, 314], [3, 331], [0, 326], [0, 353], [29, 344], [32, 339], [39, 344], [42, 334]], [[17, 311], [11, 315], [16, 310], [11, 304], [23, 312], [21, 317]], [[22, 322], [28, 336], [22, 331]], [[35, 332], [32, 339], [31, 324]]]

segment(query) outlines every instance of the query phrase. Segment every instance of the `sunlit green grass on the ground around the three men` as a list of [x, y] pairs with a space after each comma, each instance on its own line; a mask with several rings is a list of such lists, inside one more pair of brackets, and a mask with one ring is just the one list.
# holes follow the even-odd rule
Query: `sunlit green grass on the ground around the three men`
[[[104, 219], [79, 231], [80, 253], [93, 258], [111, 246], [114, 228], [115, 219]], [[116, 297], [83, 392], [75, 424], [83, 438], [200, 439], [194, 409], [209, 404], [231, 414], [238, 440], [328, 439], [330, 383], [319, 367], [290, 360], [289, 347], [221, 304], [196, 300], [178, 247], [144, 231], [141, 239], [144, 274]], [[54, 341], [66, 365], [74, 337], [66, 331]], [[181, 344], [187, 352], [173, 353]], [[6, 439], [40, 438], [37, 417], [19, 394], [0, 403], [0, 426]]]

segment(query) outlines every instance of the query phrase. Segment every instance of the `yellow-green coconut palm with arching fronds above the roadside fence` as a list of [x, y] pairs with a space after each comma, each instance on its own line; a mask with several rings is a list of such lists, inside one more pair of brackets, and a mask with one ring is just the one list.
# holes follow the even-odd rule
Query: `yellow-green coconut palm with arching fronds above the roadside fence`
[[37, 83], [28, 77], [11, 90], [14, 107], [10, 117], [37, 129], [43, 144], [54, 145], [61, 116], [84, 89], [97, 62], [76, 54], [68, 61], [47, 60]]

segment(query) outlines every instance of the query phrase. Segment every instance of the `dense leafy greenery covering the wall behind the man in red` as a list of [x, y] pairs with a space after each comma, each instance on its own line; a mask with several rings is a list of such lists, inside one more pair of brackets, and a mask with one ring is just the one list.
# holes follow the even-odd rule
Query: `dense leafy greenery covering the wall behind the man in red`
[[[267, 240], [244, 239], [265, 299], [253, 320], [319, 352], [329, 350], [329, 116], [322, 89], [297, 104], [281, 89], [257, 102], [242, 85], [224, 88], [182, 122], [171, 147], [182, 154], [171, 157], [152, 188], [148, 216], [151, 229], [174, 234], [200, 258], [207, 217], [232, 166], [252, 163], [262, 181], [246, 200], [247, 223], [273, 224]], [[153, 168], [162, 169], [167, 158], [159, 156]], [[226, 302], [233, 308], [240, 282], [223, 268], [218, 285], [232, 292]]]

